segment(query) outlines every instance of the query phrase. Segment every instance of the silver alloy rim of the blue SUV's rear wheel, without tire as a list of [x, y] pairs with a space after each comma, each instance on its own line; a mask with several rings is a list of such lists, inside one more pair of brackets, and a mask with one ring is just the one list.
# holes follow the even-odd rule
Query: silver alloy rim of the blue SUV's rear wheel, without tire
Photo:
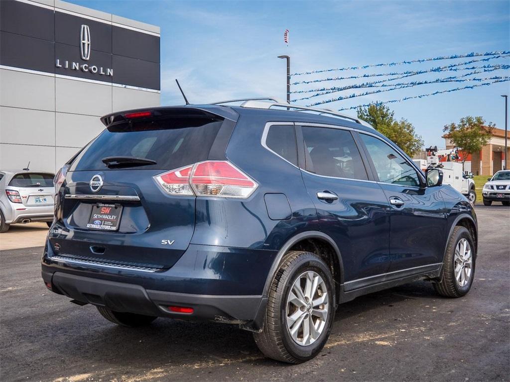
[[329, 296], [322, 277], [306, 271], [297, 277], [287, 298], [286, 320], [290, 336], [298, 345], [314, 343], [324, 331]]

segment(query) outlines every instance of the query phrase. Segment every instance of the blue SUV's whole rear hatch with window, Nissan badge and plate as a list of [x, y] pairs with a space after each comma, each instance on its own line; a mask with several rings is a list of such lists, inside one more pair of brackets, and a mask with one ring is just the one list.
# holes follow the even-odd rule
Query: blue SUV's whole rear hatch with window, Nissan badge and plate
[[195, 196], [171, 195], [155, 176], [212, 151], [224, 156], [224, 126], [234, 122], [192, 108], [106, 118], [111, 124], [73, 160], [59, 193], [58, 216], [71, 233], [50, 242], [61, 256], [169, 268], [191, 241]]

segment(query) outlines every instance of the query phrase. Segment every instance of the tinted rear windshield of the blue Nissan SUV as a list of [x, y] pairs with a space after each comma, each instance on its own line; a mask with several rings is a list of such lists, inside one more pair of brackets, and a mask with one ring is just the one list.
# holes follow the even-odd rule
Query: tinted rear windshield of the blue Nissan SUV
[[222, 122], [212, 117], [165, 117], [118, 123], [89, 143], [70, 170], [108, 170], [102, 161], [107, 157], [156, 161], [139, 169], [171, 170], [205, 161]]

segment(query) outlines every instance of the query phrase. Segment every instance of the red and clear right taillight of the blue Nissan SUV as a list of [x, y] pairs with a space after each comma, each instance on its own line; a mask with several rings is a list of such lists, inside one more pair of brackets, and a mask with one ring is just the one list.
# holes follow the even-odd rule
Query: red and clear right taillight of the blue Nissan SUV
[[170, 195], [247, 198], [258, 187], [248, 175], [228, 161], [205, 161], [154, 177]]

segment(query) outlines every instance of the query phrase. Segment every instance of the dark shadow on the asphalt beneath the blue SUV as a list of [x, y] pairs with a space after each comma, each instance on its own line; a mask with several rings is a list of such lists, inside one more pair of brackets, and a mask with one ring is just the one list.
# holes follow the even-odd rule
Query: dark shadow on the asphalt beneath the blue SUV
[[[382, 309], [417, 298], [427, 300], [438, 298], [438, 295], [429, 283], [413, 283], [341, 304], [332, 335], [374, 330], [370, 321], [363, 323], [360, 317], [382, 315], [381, 319], [387, 319], [392, 325], [395, 317]], [[205, 369], [231, 363], [290, 366], [265, 359], [254, 343], [252, 334], [235, 325], [159, 318], [149, 326], [127, 328], [105, 321], [90, 305], [82, 309], [86, 309], [87, 313], [73, 312], [72, 316], [80, 314], [92, 318], [85, 331], [83, 326], [69, 322], [67, 329], [72, 335], [66, 337], [67, 341], [53, 343], [53, 346], [59, 348], [62, 354], [84, 354], [98, 367], [104, 363], [122, 370], [143, 370], [147, 367], [165, 370], [183, 367]], [[378, 313], [373, 314], [374, 310]], [[396, 315], [397, 311], [395, 309]], [[83, 320], [80, 321], [83, 323]], [[87, 333], [89, 330], [90, 334]]]

